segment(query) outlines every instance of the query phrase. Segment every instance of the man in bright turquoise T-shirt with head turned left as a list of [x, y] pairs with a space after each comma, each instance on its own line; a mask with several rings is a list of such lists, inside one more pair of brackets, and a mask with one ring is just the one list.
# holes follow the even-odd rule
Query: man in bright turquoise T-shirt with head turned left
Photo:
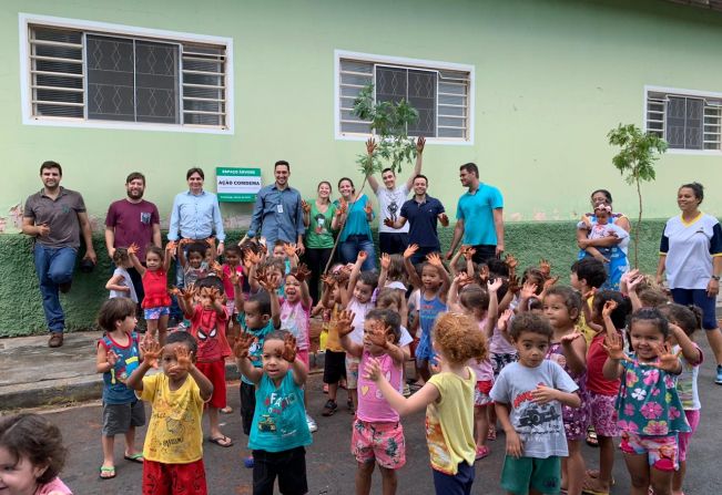
[[476, 249], [474, 262], [486, 262], [504, 252], [504, 198], [499, 189], [479, 182], [479, 168], [474, 163], [459, 167], [459, 178], [469, 190], [459, 198], [454, 239], [446, 259], [451, 259], [464, 237], [464, 244]]

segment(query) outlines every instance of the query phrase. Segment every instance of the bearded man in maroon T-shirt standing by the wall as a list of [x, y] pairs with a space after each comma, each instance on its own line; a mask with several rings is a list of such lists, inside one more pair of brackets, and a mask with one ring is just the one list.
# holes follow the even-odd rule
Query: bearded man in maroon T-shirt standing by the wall
[[[111, 203], [105, 216], [105, 248], [108, 256], [113, 259], [115, 249], [135, 244], [139, 248], [138, 258], [145, 262], [145, 247], [153, 244], [161, 247], [161, 218], [157, 207], [143, 199], [145, 176], [133, 172], [125, 179], [125, 199]], [[139, 307], [143, 302], [143, 282], [135, 268], [129, 268], [128, 274], [133, 281]]]

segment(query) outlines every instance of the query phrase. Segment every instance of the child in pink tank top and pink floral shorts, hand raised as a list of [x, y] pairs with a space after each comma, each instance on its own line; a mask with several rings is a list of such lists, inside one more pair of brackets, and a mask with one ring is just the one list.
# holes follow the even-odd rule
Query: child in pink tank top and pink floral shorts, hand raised
[[396, 470], [406, 464], [406, 443], [399, 416], [384, 399], [376, 383], [365, 374], [370, 359], [396, 391], [403, 389], [404, 351], [397, 346], [400, 318], [387, 309], [374, 309], [364, 321], [364, 343], [354, 343], [348, 334], [354, 331], [354, 316], [348, 311], [338, 319], [340, 343], [347, 354], [358, 358], [358, 410], [350, 441], [356, 457], [356, 494], [368, 495], [375, 464], [382, 472], [384, 495], [394, 495], [398, 481]]

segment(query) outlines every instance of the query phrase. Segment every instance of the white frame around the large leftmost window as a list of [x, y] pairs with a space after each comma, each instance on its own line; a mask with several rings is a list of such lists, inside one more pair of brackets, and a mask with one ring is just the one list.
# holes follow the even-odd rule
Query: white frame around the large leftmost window
[[[114, 128], [129, 131], [162, 131], [200, 134], [234, 134], [234, 99], [233, 99], [233, 38], [194, 34], [180, 31], [166, 31], [160, 29], [138, 28], [124, 24], [112, 24], [108, 22], [88, 21], [80, 19], [67, 19], [52, 16], [40, 16], [20, 12], [18, 14], [20, 31], [20, 105], [22, 110], [22, 123], [24, 125], [47, 125], [58, 127], [84, 127], [84, 128]], [[30, 97], [30, 40], [29, 28], [31, 24], [39, 24], [49, 28], [65, 28], [79, 31], [93, 31], [98, 34], [143, 38], [165, 43], [200, 43], [224, 45], [226, 50], [225, 61], [225, 126], [211, 127], [192, 124], [157, 124], [146, 122], [114, 122], [98, 120], [78, 120], [70, 117], [42, 117], [32, 114], [32, 102]], [[182, 85], [182, 82], [181, 82]], [[182, 91], [182, 90], [179, 90]], [[87, 93], [85, 93], [87, 94]], [[182, 112], [182, 107], [180, 111]], [[183, 117], [181, 116], [181, 122]]]

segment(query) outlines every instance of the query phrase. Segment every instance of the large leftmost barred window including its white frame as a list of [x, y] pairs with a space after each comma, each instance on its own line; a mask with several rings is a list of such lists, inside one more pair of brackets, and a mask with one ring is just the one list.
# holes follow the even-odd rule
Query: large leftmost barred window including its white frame
[[232, 130], [231, 40], [26, 18], [26, 123]]

